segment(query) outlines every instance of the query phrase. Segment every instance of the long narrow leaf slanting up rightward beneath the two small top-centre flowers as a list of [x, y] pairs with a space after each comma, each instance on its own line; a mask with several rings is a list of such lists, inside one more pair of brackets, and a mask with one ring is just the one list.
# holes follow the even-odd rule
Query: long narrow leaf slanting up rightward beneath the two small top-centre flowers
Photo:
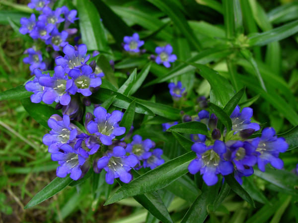
[[[206, 64], [211, 61], [214, 61], [219, 58], [223, 58], [231, 54], [229, 49], [207, 49], [201, 51], [198, 55], [191, 57], [190, 59], [186, 60], [185, 64], [180, 64], [177, 67], [173, 68], [170, 72], [162, 75], [161, 77], [156, 78], [155, 80], [150, 81], [144, 87], [148, 87], [152, 84], [162, 83], [168, 81], [174, 77], [180, 76], [186, 72], [193, 71], [194, 67], [189, 62], [196, 62]], [[153, 64], [152, 64], [153, 65]]]

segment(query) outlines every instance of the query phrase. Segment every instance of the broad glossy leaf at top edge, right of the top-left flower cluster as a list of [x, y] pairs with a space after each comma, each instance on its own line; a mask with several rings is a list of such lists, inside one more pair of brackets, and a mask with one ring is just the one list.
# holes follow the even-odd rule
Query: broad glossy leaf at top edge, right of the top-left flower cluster
[[77, 1], [79, 28], [87, 49], [109, 51], [105, 31], [94, 4], [88, 0]]

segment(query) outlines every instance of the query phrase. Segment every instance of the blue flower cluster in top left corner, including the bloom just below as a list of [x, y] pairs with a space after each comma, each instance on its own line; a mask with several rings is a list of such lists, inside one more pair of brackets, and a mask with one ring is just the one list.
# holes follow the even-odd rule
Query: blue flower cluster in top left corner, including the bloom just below
[[[61, 47], [68, 44], [67, 38], [77, 32], [75, 28], [69, 28], [78, 19], [76, 17], [77, 11], [69, 10], [67, 6], [52, 10], [50, 5], [50, 0], [32, 0], [28, 7], [35, 8], [41, 14], [37, 19], [35, 14], [31, 14], [30, 18], [21, 18], [19, 32], [23, 35], [29, 34], [34, 40], [42, 40], [46, 45], [51, 45], [54, 51], [60, 51]], [[62, 22], [64, 22], [64, 28], [60, 32], [58, 28]], [[27, 53], [28, 57], [23, 60], [24, 63], [30, 64], [32, 73], [35, 68], [46, 70], [42, 54], [35, 48], [26, 50], [25, 54]]]

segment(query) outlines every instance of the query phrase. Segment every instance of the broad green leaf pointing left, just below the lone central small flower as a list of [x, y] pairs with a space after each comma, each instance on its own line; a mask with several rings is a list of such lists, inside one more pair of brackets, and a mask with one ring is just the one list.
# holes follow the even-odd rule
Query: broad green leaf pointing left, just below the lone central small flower
[[170, 106], [166, 106], [166, 105], [162, 105], [154, 102], [149, 102], [147, 100], [138, 99], [135, 97], [131, 97], [131, 98], [133, 98], [140, 105], [147, 107], [150, 111], [153, 111], [155, 114], [158, 114], [162, 117], [166, 117], [171, 120], [177, 120], [178, 118], [180, 118], [180, 110], [178, 109], [174, 109]]

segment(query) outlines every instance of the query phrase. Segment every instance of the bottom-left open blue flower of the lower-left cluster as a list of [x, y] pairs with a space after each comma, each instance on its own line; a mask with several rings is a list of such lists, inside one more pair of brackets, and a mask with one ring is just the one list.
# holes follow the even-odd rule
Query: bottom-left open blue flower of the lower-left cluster
[[56, 175], [66, 177], [70, 173], [73, 180], [78, 180], [89, 168], [89, 164], [86, 162], [88, 159], [87, 152], [83, 149], [75, 150], [67, 144], [61, 146], [61, 149], [63, 152], [56, 152], [51, 155], [52, 160], [58, 161], [60, 165], [57, 167]]

